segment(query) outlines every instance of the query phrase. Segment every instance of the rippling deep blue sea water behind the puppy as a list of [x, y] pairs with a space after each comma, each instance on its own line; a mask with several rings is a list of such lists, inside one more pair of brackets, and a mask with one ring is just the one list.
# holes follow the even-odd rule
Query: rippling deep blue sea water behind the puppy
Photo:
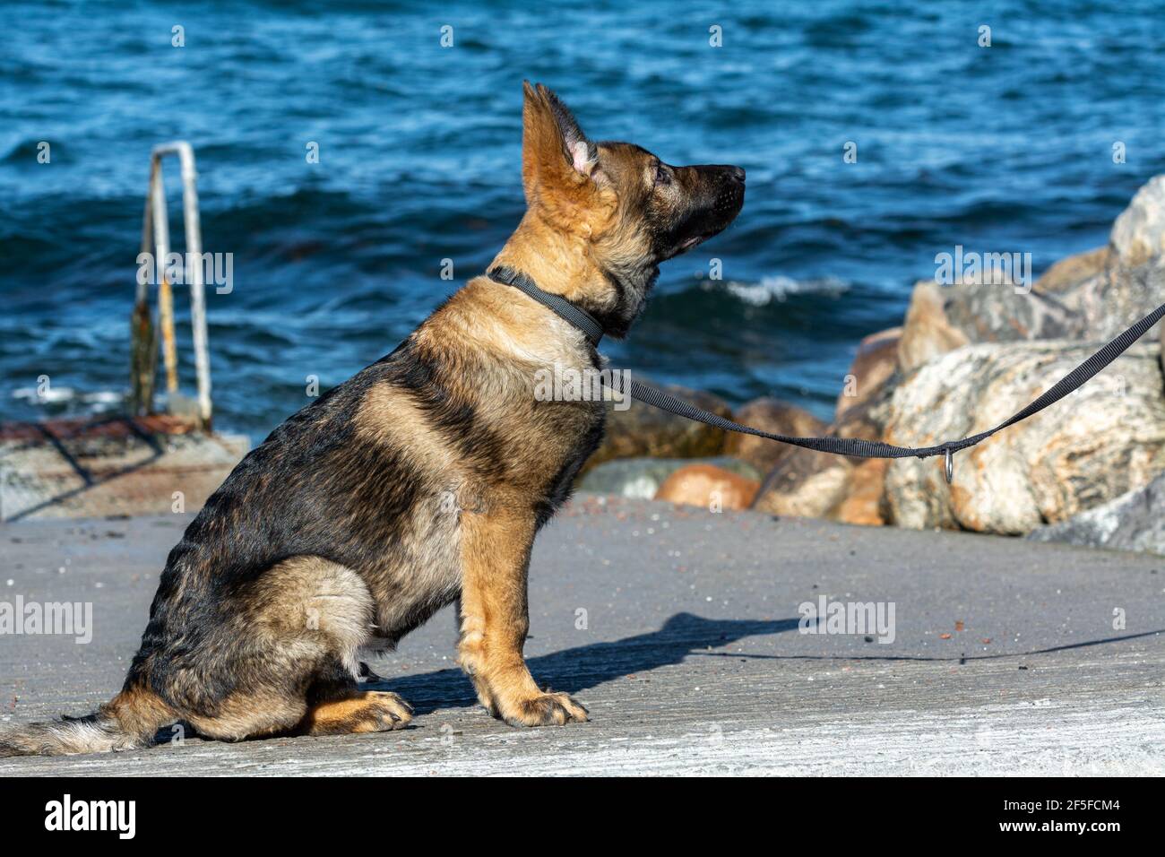
[[[2, 3], [0, 417], [126, 388], [148, 155], [186, 139], [205, 250], [234, 262], [209, 297], [217, 424], [262, 436], [308, 375], [377, 359], [501, 246], [523, 78], [594, 138], [748, 170], [736, 224], [664, 266], [615, 364], [827, 415], [935, 253], [1038, 273], [1107, 240], [1165, 171], [1163, 23], [1156, 0]], [[45, 374], [55, 403], [30, 395]]]

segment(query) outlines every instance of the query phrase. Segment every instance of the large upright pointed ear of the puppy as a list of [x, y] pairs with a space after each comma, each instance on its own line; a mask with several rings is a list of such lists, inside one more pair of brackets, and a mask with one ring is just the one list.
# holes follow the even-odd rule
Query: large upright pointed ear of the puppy
[[522, 84], [522, 187], [527, 204], [541, 206], [563, 226], [609, 208], [599, 169], [599, 149], [558, 96], [538, 84]]

